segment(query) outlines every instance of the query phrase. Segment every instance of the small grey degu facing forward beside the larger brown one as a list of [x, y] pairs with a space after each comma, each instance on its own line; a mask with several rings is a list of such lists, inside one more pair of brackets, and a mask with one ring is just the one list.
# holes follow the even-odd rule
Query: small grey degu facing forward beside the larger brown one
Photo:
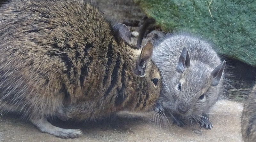
[[154, 39], [152, 59], [164, 84], [156, 111], [168, 112], [179, 126], [199, 122], [201, 128], [211, 129], [208, 111], [225, 91], [226, 61], [220, 60], [211, 44], [189, 34]]

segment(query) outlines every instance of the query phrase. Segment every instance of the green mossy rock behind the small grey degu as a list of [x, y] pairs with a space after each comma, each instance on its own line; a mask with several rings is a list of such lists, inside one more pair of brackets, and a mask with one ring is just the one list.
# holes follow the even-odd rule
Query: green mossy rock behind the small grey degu
[[185, 30], [212, 41], [219, 53], [256, 67], [256, 1], [135, 0], [165, 31]]

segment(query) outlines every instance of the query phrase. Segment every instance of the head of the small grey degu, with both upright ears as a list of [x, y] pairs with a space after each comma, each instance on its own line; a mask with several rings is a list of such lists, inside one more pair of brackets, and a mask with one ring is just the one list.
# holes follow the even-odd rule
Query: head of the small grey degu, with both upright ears
[[187, 49], [183, 48], [176, 73], [163, 92], [167, 96], [163, 106], [184, 117], [202, 115], [218, 99], [225, 66], [226, 61], [215, 68], [197, 60], [190, 61]]

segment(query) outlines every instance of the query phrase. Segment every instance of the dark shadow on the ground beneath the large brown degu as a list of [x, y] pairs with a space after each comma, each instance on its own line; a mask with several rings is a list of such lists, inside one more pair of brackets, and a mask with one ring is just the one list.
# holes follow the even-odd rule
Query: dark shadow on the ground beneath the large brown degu
[[[2, 119], [15, 123], [25, 123], [26, 125], [33, 125], [29, 120], [22, 119], [19, 114], [7, 113], [1, 114]], [[133, 126], [148, 124], [148, 117], [136, 116], [131, 114], [113, 115], [109, 118], [103, 118], [97, 121], [77, 122], [73, 120], [61, 121], [58, 118], [49, 118], [48, 121], [57, 127], [64, 129], [81, 129], [86, 133], [93, 133], [100, 131], [118, 131], [121, 133], [133, 133], [130, 129]], [[34, 126], [34, 125], [33, 125]], [[36, 126], [34, 126], [36, 127]]]

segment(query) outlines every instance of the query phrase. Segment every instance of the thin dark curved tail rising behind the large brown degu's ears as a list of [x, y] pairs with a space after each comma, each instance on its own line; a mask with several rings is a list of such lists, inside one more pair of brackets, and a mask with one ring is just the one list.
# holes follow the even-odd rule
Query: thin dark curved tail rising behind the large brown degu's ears
[[141, 47], [141, 43], [143, 40], [143, 37], [146, 33], [147, 28], [149, 27], [150, 24], [154, 24], [156, 21], [153, 18], [147, 18], [142, 27], [140, 28], [140, 32], [139, 32], [139, 36], [138, 36], [138, 40], [137, 40], [137, 44], [136, 47], [139, 49]]

